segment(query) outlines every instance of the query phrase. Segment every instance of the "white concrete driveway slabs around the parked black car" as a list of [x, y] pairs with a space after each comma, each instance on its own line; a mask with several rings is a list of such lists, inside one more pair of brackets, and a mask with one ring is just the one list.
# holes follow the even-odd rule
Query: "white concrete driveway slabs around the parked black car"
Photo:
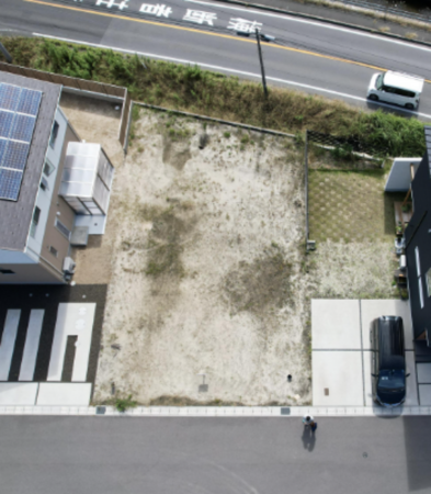
[[406, 405], [419, 405], [408, 302], [313, 300], [314, 406], [373, 406], [370, 328], [382, 315], [402, 317], [407, 371], [410, 372]]

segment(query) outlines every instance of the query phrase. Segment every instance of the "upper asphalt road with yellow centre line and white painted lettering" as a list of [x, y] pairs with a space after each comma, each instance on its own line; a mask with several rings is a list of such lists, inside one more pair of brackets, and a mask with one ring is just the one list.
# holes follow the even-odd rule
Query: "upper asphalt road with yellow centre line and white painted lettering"
[[[238, 36], [229, 26], [238, 18], [258, 22], [263, 33], [276, 37], [276, 44], [263, 47], [270, 83], [343, 99], [362, 108], [378, 106], [365, 100], [371, 75], [378, 68], [418, 74], [431, 80], [428, 47], [218, 2], [172, 0], [163, 3], [165, 14], [169, 9], [168, 16], [139, 12], [141, 0], [128, 0], [127, 8], [121, 7], [121, 0], [111, 8], [109, 1], [97, 5], [97, 0], [1, 3], [3, 33], [16, 30], [82, 41], [200, 64], [243, 78], [260, 77], [256, 42]], [[205, 15], [190, 20], [190, 10]], [[421, 120], [431, 120], [430, 83], [426, 83], [419, 113]]]

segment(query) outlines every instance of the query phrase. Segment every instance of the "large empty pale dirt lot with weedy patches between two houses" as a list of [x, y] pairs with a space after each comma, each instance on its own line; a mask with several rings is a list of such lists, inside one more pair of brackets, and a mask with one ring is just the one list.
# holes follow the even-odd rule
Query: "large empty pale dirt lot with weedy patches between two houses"
[[302, 153], [146, 110], [133, 134], [93, 401], [308, 403]]

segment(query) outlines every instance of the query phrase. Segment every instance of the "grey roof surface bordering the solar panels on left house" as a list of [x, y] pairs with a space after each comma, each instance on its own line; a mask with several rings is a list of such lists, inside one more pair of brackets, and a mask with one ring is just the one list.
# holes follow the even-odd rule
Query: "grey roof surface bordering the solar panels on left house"
[[61, 86], [0, 71], [0, 82], [42, 91], [18, 201], [0, 200], [0, 249], [24, 250]]

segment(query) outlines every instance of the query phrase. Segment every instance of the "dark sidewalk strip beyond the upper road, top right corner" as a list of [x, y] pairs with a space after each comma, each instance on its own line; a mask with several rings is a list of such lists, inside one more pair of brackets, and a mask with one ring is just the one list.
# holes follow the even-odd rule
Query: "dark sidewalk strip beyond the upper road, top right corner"
[[[229, 0], [220, 1], [230, 2]], [[232, 0], [232, 3], [242, 3], [249, 7], [277, 9], [286, 13], [319, 18], [329, 22], [333, 21], [336, 23], [348, 24], [350, 26], [356, 26], [359, 29], [372, 30], [381, 34], [393, 34], [396, 36], [405, 37], [407, 40], [416, 40], [431, 44], [431, 31], [420, 29], [418, 26], [406, 25], [409, 22], [408, 19], [399, 16], [399, 22], [385, 21], [384, 19], [377, 16], [379, 15], [379, 12], [377, 11], [375, 12], [375, 16], [372, 11], [370, 12], [370, 15], [367, 15], [364, 13], [355, 12], [351, 5], [347, 4], [341, 4], [341, 8], [338, 8], [297, 0], [248, 0], [243, 2]]]

